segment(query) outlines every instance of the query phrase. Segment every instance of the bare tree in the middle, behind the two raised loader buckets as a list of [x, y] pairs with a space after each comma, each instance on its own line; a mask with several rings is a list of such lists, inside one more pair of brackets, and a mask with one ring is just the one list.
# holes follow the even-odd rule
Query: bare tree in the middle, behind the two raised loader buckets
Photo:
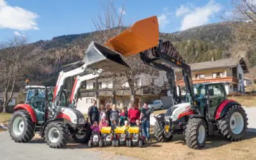
[[[108, 1], [107, 3], [101, 4], [101, 11], [98, 17], [92, 19], [93, 26], [97, 30], [93, 39], [100, 44], [106, 42], [109, 38], [118, 35], [121, 33], [125, 27], [123, 26], [124, 20], [124, 5], [117, 12], [115, 4], [112, 1]], [[122, 56], [122, 55], [121, 55]], [[122, 90], [124, 88], [124, 84], [129, 84], [129, 89], [131, 92], [131, 100], [135, 100], [136, 92], [138, 90], [147, 89], [148, 92], [160, 93], [161, 86], [157, 85], [159, 83], [159, 71], [154, 68], [145, 67], [143, 62], [140, 60], [140, 56], [130, 56], [124, 57], [122, 59], [129, 65], [131, 70], [128, 70], [124, 73], [117, 74], [104, 74], [113, 78], [113, 90]], [[147, 75], [144, 76], [143, 84], [141, 85], [138, 80], [141, 77], [141, 74]]]

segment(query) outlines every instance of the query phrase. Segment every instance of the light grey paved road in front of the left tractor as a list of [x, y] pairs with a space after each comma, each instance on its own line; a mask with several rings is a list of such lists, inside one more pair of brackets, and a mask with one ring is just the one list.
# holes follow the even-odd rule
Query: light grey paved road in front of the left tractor
[[0, 132], [0, 159], [129, 159], [108, 152], [86, 148], [86, 145], [70, 144], [66, 148], [50, 148], [42, 140], [15, 143], [8, 132]]

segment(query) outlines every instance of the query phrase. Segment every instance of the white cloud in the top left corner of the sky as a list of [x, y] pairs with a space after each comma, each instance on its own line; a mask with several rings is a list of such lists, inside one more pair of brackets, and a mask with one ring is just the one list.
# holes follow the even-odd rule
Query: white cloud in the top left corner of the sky
[[38, 15], [34, 12], [18, 6], [8, 6], [5, 1], [0, 0], [0, 28], [20, 31], [39, 29], [35, 21], [37, 18]]

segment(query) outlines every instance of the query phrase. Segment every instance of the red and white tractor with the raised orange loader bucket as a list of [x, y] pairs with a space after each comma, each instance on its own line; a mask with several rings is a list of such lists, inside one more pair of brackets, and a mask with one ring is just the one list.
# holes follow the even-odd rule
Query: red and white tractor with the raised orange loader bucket
[[[156, 16], [140, 20], [105, 44], [123, 56], [140, 54], [146, 65], [166, 72], [175, 105], [164, 116], [156, 117], [156, 140], [169, 141], [173, 134], [185, 134], [190, 148], [204, 147], [207, 135], [214, 132], [230, 141], [241, 140], [248, 125], [241, 104], [227, 99], [223, 83], [196, 84], [193, 87], [190, 66], [184, 63], [170, 41], [159, 40], [157, 22]], [[182, 72], [186, 102], [182, 103], [181, 94], [177, 93], [173, 68]]]

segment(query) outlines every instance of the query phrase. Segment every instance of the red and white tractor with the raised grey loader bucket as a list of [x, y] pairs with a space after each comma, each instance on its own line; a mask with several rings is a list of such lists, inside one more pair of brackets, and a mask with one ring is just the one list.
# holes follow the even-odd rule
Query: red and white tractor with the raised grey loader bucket
[[[9, 122], [12, 140], [24, 143], [38, 132], [51, 148], [65, 147], [70, 136], [78, 143], [86, 143], [92, 134], [90, 126], [85, 122], [83, 114], [74, 105], [67, 103], [63, 84], [67, 77], [86, 72], [89, 73], [87, 79], [93, 78], [94, 74], [100, 74], [101, 68], [109, 72], [129, 69], [120, 55], [92, 42], [83, 61], [60, 72], [55, 88], [26, 86], [26, 103], [15, 106]], [[72, 100], [75, 90], [72, 92]]]

